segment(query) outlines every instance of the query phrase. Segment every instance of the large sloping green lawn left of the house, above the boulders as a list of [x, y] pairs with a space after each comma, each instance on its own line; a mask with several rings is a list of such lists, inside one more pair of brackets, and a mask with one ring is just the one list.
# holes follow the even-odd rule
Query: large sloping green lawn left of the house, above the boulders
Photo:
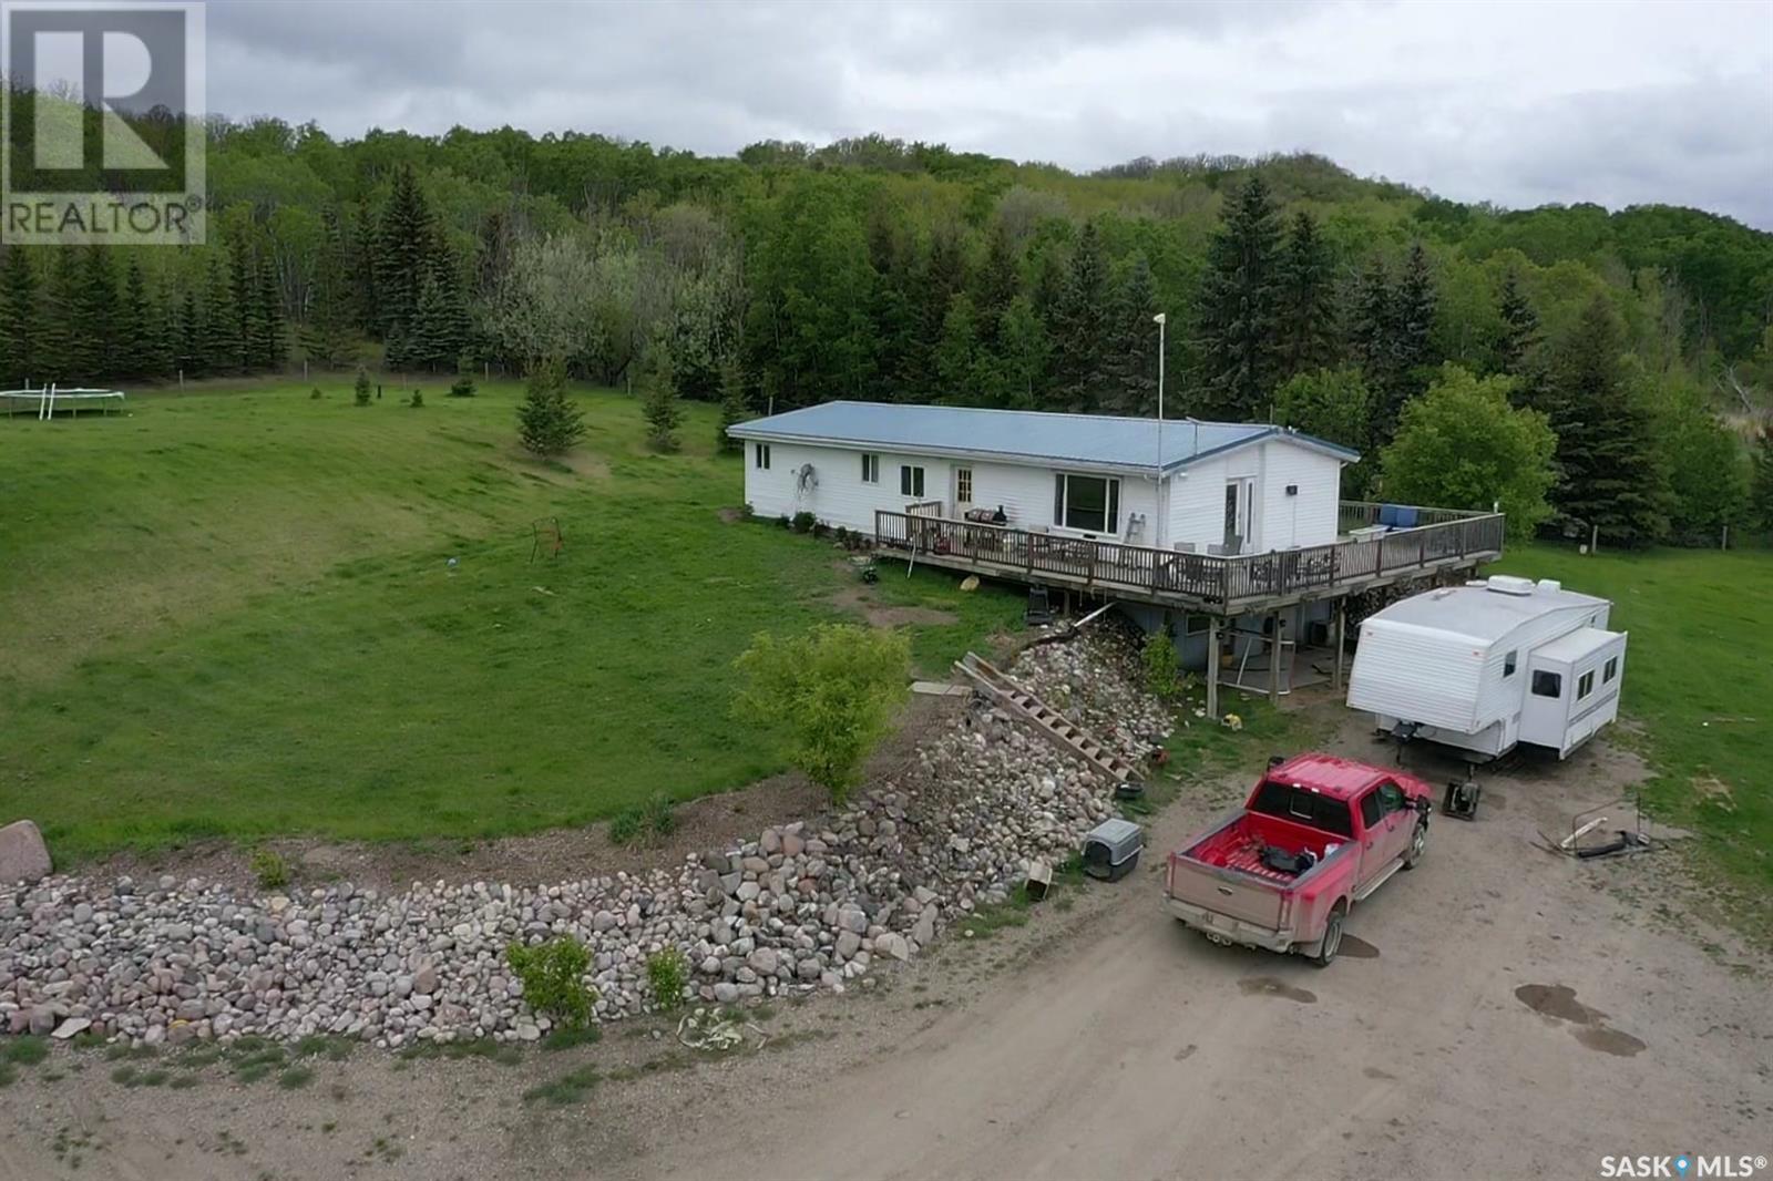
[[[0, 422], [0, 816], [60, 858], [193, 837], [488, 837], [780, 770], [729, 716], [752, 633], [855, 617], [839, 555], [729, 523], [738, 458], [576, 394], [569, 463], [516, 447], [512, 385], [351, 404], [344, 378]], [[530, 562], [530, 523], [566, 553]], [[456, 559], [456, 566], [449, 566]], [[927, 670], [1019, 598], [883, 578]]]

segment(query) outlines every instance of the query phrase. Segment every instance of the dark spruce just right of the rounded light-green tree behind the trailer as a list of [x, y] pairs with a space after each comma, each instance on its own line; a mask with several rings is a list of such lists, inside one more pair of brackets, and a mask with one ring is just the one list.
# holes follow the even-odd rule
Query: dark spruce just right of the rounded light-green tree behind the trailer
[[1553, 504], [1613, 544], [1649, 544], [1667, 527], [1667, 473], [1652, 422], [1621, 372], [1619, 319], [1596, 296], [1551, 367], [1551, 429], [1558, 481]]

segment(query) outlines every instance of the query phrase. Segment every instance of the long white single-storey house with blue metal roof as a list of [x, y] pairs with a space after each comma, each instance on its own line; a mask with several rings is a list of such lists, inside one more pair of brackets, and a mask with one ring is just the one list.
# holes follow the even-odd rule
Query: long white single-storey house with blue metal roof
[[874, 512], [965, 518], [1183, 553], [1337, 541], [1346, 447], [1275, 426], [824, 403], [730, 427], [745, 500], [872, 532]]

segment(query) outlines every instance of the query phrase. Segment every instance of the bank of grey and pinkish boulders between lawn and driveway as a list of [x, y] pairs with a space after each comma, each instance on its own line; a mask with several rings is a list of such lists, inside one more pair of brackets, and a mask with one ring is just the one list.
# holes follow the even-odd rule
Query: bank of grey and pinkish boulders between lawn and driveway
[[[1062, 695], [1122, 754], [1167, 727], [1112, 630], [1027, 653], [1012, 674]], [[1113, 784], [986, 702], [902, 775], [819, 823], [769, 828], [676, 869], [541, 888], [337, 883], [298, 896], [223, 883], [51, 876], [0, 894], [0, 1028], [137, 1043], [337, 1034], [402, 1046], [550, 1028], [505, 963], [514, 940], [590, 952], [599, 1020], [654, 1007], [647, 961], [676, 950], [709, 1002], [842, 991], [910, 959], [956, 915], [1000, 903], [1035, 860], [1074, 853]]]

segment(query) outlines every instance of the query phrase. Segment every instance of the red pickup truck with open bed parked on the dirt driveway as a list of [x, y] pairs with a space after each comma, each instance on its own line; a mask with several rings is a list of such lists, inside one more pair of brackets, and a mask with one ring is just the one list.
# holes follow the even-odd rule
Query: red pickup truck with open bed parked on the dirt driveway
[[1326, 754], [1275, 761], [1243, 810], [1175, 853], [1172, 915], [1218, 943], [1335, 959], [1349, 908], [1422, 860], [1431, 787]]

